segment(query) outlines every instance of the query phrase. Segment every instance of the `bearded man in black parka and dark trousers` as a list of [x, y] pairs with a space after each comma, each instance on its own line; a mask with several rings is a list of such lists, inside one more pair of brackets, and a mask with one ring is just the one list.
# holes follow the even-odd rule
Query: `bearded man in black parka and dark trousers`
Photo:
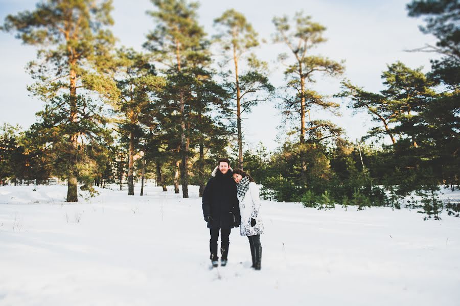
[[203, 215], [208, 222], [211, 239], [209, 249], [213, 267], [217, 267], [217, 241], [220, 231], [220, 264], [227, 264], [229, 236], [233, 227], [241, 223], [240, 207], [238, 205], [236, 184], [232, 179], [232, 168], [227, 158], [219, 160], [219, 166], [214, 169], [211, 179], [203, 191]]

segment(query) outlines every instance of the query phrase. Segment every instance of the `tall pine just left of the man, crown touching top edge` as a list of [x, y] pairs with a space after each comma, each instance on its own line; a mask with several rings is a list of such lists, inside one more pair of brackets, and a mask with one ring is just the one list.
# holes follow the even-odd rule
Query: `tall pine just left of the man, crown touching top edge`
[[190, 131], [190, 78], [183, 71], [188, 66], [188, 55], [199, 48], [205, 33], [197, 21], [197, 3], [185, 0], [152, 0], [156, 11], [148, 12], [156, 22], [156, 27], [147, 35], [145, 48], [159, 57], [168, 67], [167, 86], [169, 94], [164, 96], [165, 104], [175, 108], [180, 125], [180, 179], [182, 196], [188, 198]]

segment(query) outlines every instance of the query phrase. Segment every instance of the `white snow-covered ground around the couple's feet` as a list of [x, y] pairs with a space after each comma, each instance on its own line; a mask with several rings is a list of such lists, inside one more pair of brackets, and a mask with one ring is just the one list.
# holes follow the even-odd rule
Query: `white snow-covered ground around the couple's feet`
[[[460, 305], [460, 219], [262, 202], [262, 270], [234, 229], [210, 270], [196, 186], [182, 199], [0, 187], [0, 305]], [[459, 197], [458, 193], [444, 197]]]

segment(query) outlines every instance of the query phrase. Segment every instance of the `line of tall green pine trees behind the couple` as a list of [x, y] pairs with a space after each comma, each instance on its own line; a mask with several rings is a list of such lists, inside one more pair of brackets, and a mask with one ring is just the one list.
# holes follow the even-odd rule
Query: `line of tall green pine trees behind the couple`
[[[339, 104], [314, 90], [321, 76], [337, 77], [343, 62], [312, 53], [326, 28], [303, 12], [275, 16], [273, 41], [284, 46], [279, 63], [285, 84], [270, 82], [269, 64], [257, 58], [261, 39], [249, 20], [227, 10], [210, 37], [198, 20], [198, 3], [152, 0], [152, 29], [144, 52], [122, 46], [110, 31], [111, 1], [48, 1], [6, 17], [3, 31], [37, 47], [27, 69], [31, 94], [44, 102], [28, 130], [5, 124], [0, 135], [0, 180], [67, 181], [67, 201], [77, 184], [93, 189], [155, 178], [188, 197], [200, 195], [219, 157], [247, 170], [266, 198], [306, 206], [392, 206], [416, 192], [429, 217], [443, 209], [439, 185], [459, 187], [458, 115], [460, 29], [457, 1], [415, 0], [410, 17], [436, 37], [428, 73], [397, 61], [382, 72], [383, 90], [369, 92], [342, 80], [341, 98], [375, 122], [360, 141], [348, 140], [329, 120], [311, 119]], [[213, 48], [211, 48], [213, 46]], [[219, 54], [212, 54], [217, 50]], [[216, 65], [217, 56], [223, 58]], [[216, 68], [218, 66], [218, 68]], [[274, 152], [244, 150], [242, 120], [259, 103], [277, 101], [290, 131]], [[337, 100], [336, 100], [337, 101]], [[314, 116], [317, 118], [318, 116]], [[257, 123], [250, 123], [257, 124]], [[458, 207], [448, 207], [457, 214]]]

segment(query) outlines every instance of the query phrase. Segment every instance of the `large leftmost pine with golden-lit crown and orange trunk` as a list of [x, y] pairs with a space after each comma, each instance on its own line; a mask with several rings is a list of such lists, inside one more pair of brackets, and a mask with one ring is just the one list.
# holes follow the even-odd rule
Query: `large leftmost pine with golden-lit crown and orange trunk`
[[36, 80], [29, 90], [47, 106], [38, 113], [42, 122], [34, 129], [53, 144], [55, 174], [67, 179], [67, 202], [78, 201], [79, 169], [90, 164], [85, 143], [97, 133], [102, 119], [95, 115], [99, 111], [95, 103], [84, 95], [88, 91], [117, 95], [113, 83], [101, 74], [114, 41], [106, 29], [113, 23], [111, 10], [110, 0], [50, 0], [38, 3], [34, 11], [7, 16], [2, 27], [39, 48], [38, 61], [28, 66]]

